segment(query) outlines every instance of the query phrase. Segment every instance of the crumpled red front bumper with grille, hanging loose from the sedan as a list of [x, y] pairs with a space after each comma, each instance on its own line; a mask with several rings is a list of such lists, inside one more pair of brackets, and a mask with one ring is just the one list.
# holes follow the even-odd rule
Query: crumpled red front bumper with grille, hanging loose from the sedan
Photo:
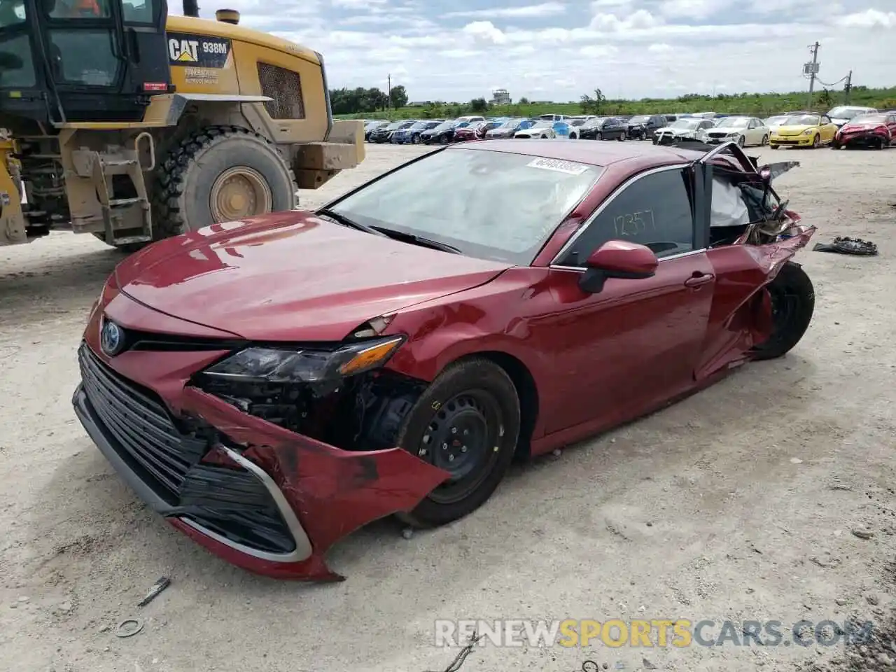
[[89, 341], [73, 406], [90, 438], [156, 513], [248, 571], [340, 581], [323, 559], [333, 543], [412, 510], [448, 476], [400, 448], [345, 451], [249, 416], [159, 374], [159, 352], [127, 351], [116, 371]]

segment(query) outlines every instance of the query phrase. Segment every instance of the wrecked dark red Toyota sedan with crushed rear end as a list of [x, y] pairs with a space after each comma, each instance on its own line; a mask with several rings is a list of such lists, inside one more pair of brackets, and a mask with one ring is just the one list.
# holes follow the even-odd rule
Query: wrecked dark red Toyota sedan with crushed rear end
[[793, 165], [468, 142], [318, 211], [159, 241], [92, 309], [75, 411], [212, 552], [339, 580], [324, 553], [367, 522], [461, 518], [514, 457], [793, 348], [814, 228], [771, 188]]

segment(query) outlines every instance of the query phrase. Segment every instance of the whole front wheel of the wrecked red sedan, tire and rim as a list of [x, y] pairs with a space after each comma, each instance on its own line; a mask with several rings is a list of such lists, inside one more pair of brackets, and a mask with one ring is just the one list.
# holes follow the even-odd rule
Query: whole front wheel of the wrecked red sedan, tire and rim
[[[451, 445], [443, 440], [453, 435], [452, 428], [458, 436], [464, 431], [478, 434], [480, 441], [458, 461], [455, 469], [461, 471], [461, 478], [456, 483], [436, 487], [413, 511], [397, 514], [409, 525], [428, 528], [456, 521], [485, 504], [504, 478], [520, 435], [520, 400], [503, 368], [483, 358], [445, 368], [410, 409], [397, 443], [421, 460], [444, 468], [449, 463], [444, 451], [467, 453], [460, 440]], [[477, 454], [479, 460], [474, 461]]]

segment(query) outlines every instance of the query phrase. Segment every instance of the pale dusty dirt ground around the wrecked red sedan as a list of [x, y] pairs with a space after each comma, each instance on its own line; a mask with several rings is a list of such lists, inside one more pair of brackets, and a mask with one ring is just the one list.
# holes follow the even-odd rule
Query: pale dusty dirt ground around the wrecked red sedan
[[[419, 151], [368, 146], [362, 168], [302, 204]], [[330, 555], [339, 584], [244, 573], [137, 501], [71, 406], [87, 311], [121, 255], [70, 234], [0, 250], [0, 669], [444, 670], [457, 650], [435, 647], [436, 618], [881, 622], [896, 595], [896, 149], [759, 153], [803, 162], [778, 185], [818, 240], [880, 247], [797, 256], [817, 292], [797, 349], [516, 468], [447, 528], [359, 531]], [[168, 590], [137, 607], [163, 575]], [[142, 631], [119, 639], [128, 617]], [[842, 653], [486, 645], [462, 669], [843, 669]], [[896, 658], [868, 655], [856, 669]]]

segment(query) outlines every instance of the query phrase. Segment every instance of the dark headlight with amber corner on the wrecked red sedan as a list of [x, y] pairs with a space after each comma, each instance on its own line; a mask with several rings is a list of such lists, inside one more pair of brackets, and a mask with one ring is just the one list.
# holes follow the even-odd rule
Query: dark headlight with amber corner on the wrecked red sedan
[[202, 373], [266, 383], [316, 383], [362, 374], [385, 365], [403, 336], [363, 340], [335, 350], [246, 348]]

